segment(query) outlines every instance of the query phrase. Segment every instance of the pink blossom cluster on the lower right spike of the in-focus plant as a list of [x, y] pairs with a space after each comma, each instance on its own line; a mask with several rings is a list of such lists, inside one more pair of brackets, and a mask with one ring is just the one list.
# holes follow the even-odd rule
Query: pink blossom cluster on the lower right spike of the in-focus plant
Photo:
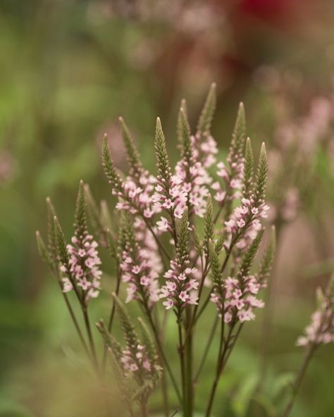
[[264, 301], [257, 299], [261, 288], [266, 287], [265, 282], [259, 282], [256, 275], [243, 276], [240, 279], [227, 278], [223, 281], [223, 299], [217, 292], [211, 294], [211, 301], [216, 304], [218, 313], [223, 316], [225, 323], [233, 320], [254, 320], [255, 308], [262, 309]]

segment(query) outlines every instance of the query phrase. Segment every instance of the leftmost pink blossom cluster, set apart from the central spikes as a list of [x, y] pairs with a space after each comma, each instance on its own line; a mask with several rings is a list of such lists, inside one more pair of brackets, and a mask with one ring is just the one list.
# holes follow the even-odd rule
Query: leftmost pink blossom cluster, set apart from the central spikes
[[68, 266], [61, 265], [61, 271], [66, 275], [63, 278], [63, 292], [73, 290], [74, 280], [75, 285], [85, 294], [86, 301], [89, 301], [91, 298], [96, 298], [101, 289], [102, 272], [99, 269], [101, 259], [97, 253], [98, 244], [93, 240], [92, 235], [88, 234], [82, 239], [73, 236], [72, 243], [73, 245], [67, 245]]

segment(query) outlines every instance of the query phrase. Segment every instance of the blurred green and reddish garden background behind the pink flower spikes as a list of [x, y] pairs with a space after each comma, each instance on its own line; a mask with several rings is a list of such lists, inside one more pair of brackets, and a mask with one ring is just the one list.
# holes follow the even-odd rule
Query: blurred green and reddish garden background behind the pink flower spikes
[[[194, 127], [212, 81], [212, 132], [222, 154], [239, 101], [254, 149], [266, 141], [278, 228], [271, 330], [264, 336], [264, 315], [247, 325], [215, 412], [280, 415], [302, 361], [295, 341], [315, 308], [315, 288], [334, 267], [333, 24], [330, 0], [0, 1], [0, 416], [111, 415], [102, 411], [61, 294], [39, 259], [35, 230], [46, 230], [50, 196], [70, 236], [80, 179], [97, 199], [110, 198], [101, 139], [109, 134], [123, 168], [120, 115], [153, 169], [161, 116], [175, 161], [180, 99]], [[106, 315], [108, 292], [94, 305], [95, 318]], [[174, 347], [172, 336], [168, 343]], [[255, 400], [263, 351], [266, 378]], [[328, 346], [311, 363], [292, 416], [333, 416], [333, 375]], [[202, 377], [199, 410], [210, 378]]]

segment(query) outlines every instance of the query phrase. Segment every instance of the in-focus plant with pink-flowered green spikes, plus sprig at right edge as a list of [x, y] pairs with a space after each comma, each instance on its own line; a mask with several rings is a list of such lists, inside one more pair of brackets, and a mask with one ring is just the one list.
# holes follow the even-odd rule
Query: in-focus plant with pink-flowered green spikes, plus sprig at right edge
[[[268, 211], [266, 149], [262, 144], [254, 168], [244, 108], [240, 104], [226, 162], [216, 163], [218, 149], [210, 133], [215, 105], [215, 85], [212, 85], [192, 135], [186, 104], [182, 101], [177, 125], [180, 161], [174, 170], [161, 121], [156, 120], [156, 175], [142, 165], [128, 128], [120, 118], [128, 175], [115, 168], [106, 137], [102, 149], [104, 171], [117, 199], [118, 214], [113, 221], [106, 203], [99, 208], [89, 187], [80, 182], [72, 243], [66, 243], [50, 199], [47, 199], [47, 244], [37, 232], [39, 253], [56, 276], [83, 349], [104, 383], [106, 372], [110, 369], [113, 373], [120, 399], [130, 416], [148, 415], [150, 394], [159, 385], [161, 409], [166, 416], [172, 412], [193, 416], [199, 377], [206, 368], [214, 334], [219, 332], [216, 366], [206, 368], [206, 373], [212, 376], [204, 412], [205, 416], [211, 416], [218, 382], [242, 327], [255, 319], [256, 309], [264, 308], [261, 290], [266, 287], [275, 252], [275, 230], [271, 230], [261, 259], [256, 261], [264, 236], [262, 223]], [[88, 232], [87, 213], [94, 237]], [[97, 351], [89, 320], [89, 306], [101, 291], [98, 246], [109, 250], [116, 266], [111, 312], [106, 323], [102, 319], [97, 323], [104, 341], [103, 352]], [[121, 301], [123, 286], [126, 297]], [[69, 292], [75, 294], [83, 320], [75, 316]], [[142, 317], [133, 320], [126, 303], [138, 303]], [[206, 323], [211, 331], [202, 359], [197, 363], [193, 355], [197, 347], [196, 328], [211, 303], [215, 304], [216, 313], [206, 315], [206, 320], [211, 321]], [[319, 303], [306, 335], [299, 339], [299, 344], [306, 346], [306, 356], [285, 416], [290, 413], [316, 347], [334, 340], [333, 289], [328, 287]], [[116, 312], [123, 341], [114, 337]], [[175, 319], [175, 340], [178, 340], [175, 351], [164, 349], [169, 315]], [[179, 357], [178, 368], [171, 366], [174, 355]], [[175, 394], [175, 411], [169, 404], [170, 390]]]

